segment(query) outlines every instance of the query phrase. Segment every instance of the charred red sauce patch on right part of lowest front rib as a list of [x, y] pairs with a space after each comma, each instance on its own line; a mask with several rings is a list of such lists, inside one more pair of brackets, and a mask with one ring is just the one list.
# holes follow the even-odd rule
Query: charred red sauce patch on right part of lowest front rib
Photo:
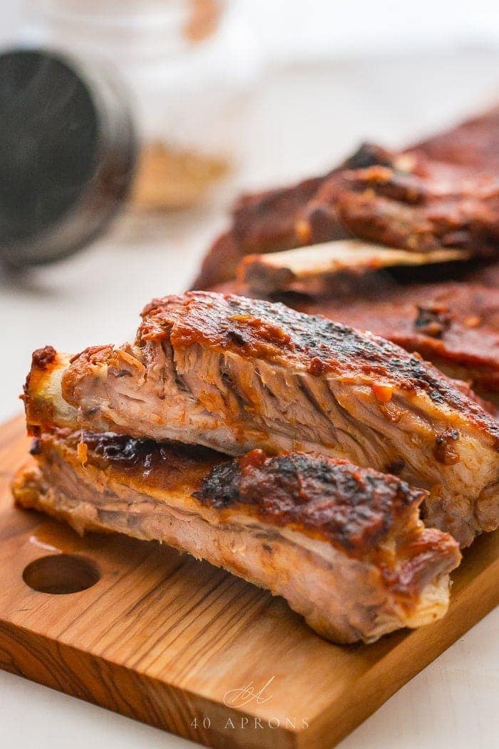
[[363, 555], [405, 522], [426, 492], [348, 461], [304, 453], [267, 458], [253, 450], [216, 465], [195, 496], [217, 509], [251, 506], [262, 521], [304, 528]]

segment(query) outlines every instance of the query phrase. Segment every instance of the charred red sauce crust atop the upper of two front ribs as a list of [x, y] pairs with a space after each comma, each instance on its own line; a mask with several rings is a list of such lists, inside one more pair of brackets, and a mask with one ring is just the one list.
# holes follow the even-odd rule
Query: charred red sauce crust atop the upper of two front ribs
[[[382, 380], [408, 392], [422, 390], [436, 404], [447, 404], [465, 414], [499, 445], [495, 419], [465, 398], [440, 372], [379, 336], [322, 315], [305, 315], [280, 303], [192, 291], [153, 300], [142, 317], [138, 345], [162, 339], [169, 339], [175, 348], [199, 343], [242, 357], [295, 366], [312, 375], [339, 373], [344, 378]], [[83, 352], [82, 359], [85, 363], [88, 354]]]

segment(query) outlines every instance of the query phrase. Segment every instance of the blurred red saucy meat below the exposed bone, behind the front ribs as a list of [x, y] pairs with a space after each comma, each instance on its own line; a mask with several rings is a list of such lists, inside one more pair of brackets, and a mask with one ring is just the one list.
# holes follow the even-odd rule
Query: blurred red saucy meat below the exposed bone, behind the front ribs
[[418, 351], [484, 397], [499, 393], [499, 287], [478, 280], [399, 285], [382, 282], [349, 303], [327, 294], [295, 300], [309, 314], [368, 328], [407, 351]]

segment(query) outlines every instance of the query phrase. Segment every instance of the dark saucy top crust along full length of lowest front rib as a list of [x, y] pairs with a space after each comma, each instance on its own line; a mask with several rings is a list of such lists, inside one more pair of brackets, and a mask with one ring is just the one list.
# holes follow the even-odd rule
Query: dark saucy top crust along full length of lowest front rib
[[[234, 511], [252, 515], [275, 527], [301, 530], [331, 542], [349, 556], [364, 557], [383, 539], [405, 527], [408, 517], [426, 496], [396, 476], [358, 468], [348, 461], [302, 453], [267, 458], [253, 450], [238, 460], [208, 449], [159, 444], [118, 434], [55, 430], [34, 440], [31, 452], [41, 462], [60, 453], [81, 466], [79, 444], [85, 444], [85, 464], [111, 470], [123, 484], [132, 481], [166, 493], [192, 487], [192, 497], [230, 521]], [[68, 451], [69, 450], [69, 454]], [[419, 542], [445, 545], [447, 536], [424, 531]]]

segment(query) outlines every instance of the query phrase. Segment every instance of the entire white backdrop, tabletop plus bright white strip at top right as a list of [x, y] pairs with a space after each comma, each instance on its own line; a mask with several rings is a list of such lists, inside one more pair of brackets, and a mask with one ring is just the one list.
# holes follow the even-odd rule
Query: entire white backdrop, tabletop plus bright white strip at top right
[[[19, 277], [0, 273], [1, 351], [7, 354], [0, 369], [1, 418], [19, 412], [16, 395], [33, 348], [51, 343], [74, 351], [120, 342], [132, 333], [150, 297], [185, 288], [224, 223], [229, 193], [328, 169], [361, 138], [409, 142], [499, 98], [496, 3], [248, 0], [243, 5], [270, 67], [242, 123], [241, 169], [227, 195], [187, 214], [155, 220], [123, 216], [108, 237], [64, 263]], [[16, 38], [19, 21], [16, 4], [4, 0], [4, 39]], [[494, 613], [402, 688], [342, 748], [497, 746], [498, 634]], [[0, 672], [0, 747], [68, 745], [188, 744]]]

